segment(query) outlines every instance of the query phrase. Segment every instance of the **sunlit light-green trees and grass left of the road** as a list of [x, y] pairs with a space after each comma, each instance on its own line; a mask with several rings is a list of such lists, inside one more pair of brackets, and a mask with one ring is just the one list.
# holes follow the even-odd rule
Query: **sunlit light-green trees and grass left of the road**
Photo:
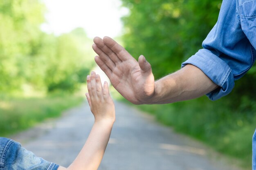
[[0, 2], [0, 136], [82, 102], [74, 93], [94, 66], [92, 40], [81, 28], [59, 36], [41, 31], [45, 11], [41, 0]]

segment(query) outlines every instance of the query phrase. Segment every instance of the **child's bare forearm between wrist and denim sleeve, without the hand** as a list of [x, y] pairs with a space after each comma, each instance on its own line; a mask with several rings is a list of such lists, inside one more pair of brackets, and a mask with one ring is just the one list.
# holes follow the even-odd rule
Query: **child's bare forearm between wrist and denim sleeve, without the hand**
[[67, 170], [97, 170], [106, 150], [114, 122], [95, 122], [81, 152]]

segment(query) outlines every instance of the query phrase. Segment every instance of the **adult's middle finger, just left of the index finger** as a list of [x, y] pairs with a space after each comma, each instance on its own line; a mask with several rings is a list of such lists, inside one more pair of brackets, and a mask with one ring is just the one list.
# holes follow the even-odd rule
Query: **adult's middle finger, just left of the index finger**
[[[106, 54], [114, 63], [121, 62], [118, 58], [117, 54], [114, 53], [106, 44], [104, 44], [103, 40], [99, 37], [95, 37], [93, 42]], [[97, 50], [97, 49], [95, 49]]]

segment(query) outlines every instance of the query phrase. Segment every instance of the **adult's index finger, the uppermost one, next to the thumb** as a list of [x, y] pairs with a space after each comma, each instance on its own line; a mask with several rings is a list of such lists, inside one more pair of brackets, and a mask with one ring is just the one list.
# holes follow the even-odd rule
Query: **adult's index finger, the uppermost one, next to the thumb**
[[117, 42], [115, 42], [115, 40], [113, 40], [110, 37], [104, 37], [103, 38], [103, 42], [104, 44], [106, 44], [106, 46], [108, 46], [113, 52], [116, 53], [116, 55], [119, 57], [119, 59], [121, 61], [126, 61], [126, 60], [135, 60], [130, 53], [128, 53], [126, 51], [126, 49], [124, 49], [123, 46], [121, 46], [120, 44], [118, 44]]

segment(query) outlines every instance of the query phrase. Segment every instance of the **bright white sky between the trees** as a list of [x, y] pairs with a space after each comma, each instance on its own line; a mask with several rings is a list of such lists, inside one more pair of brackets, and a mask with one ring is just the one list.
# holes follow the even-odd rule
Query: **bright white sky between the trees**
[[41, 28], [61, 35], [77, 27], [85, 29], [89, 38], [117, 37], [123, 33], [121, 17], [128, 9], [120, 0], [43, 0], [47, 7], [47, 22]]

